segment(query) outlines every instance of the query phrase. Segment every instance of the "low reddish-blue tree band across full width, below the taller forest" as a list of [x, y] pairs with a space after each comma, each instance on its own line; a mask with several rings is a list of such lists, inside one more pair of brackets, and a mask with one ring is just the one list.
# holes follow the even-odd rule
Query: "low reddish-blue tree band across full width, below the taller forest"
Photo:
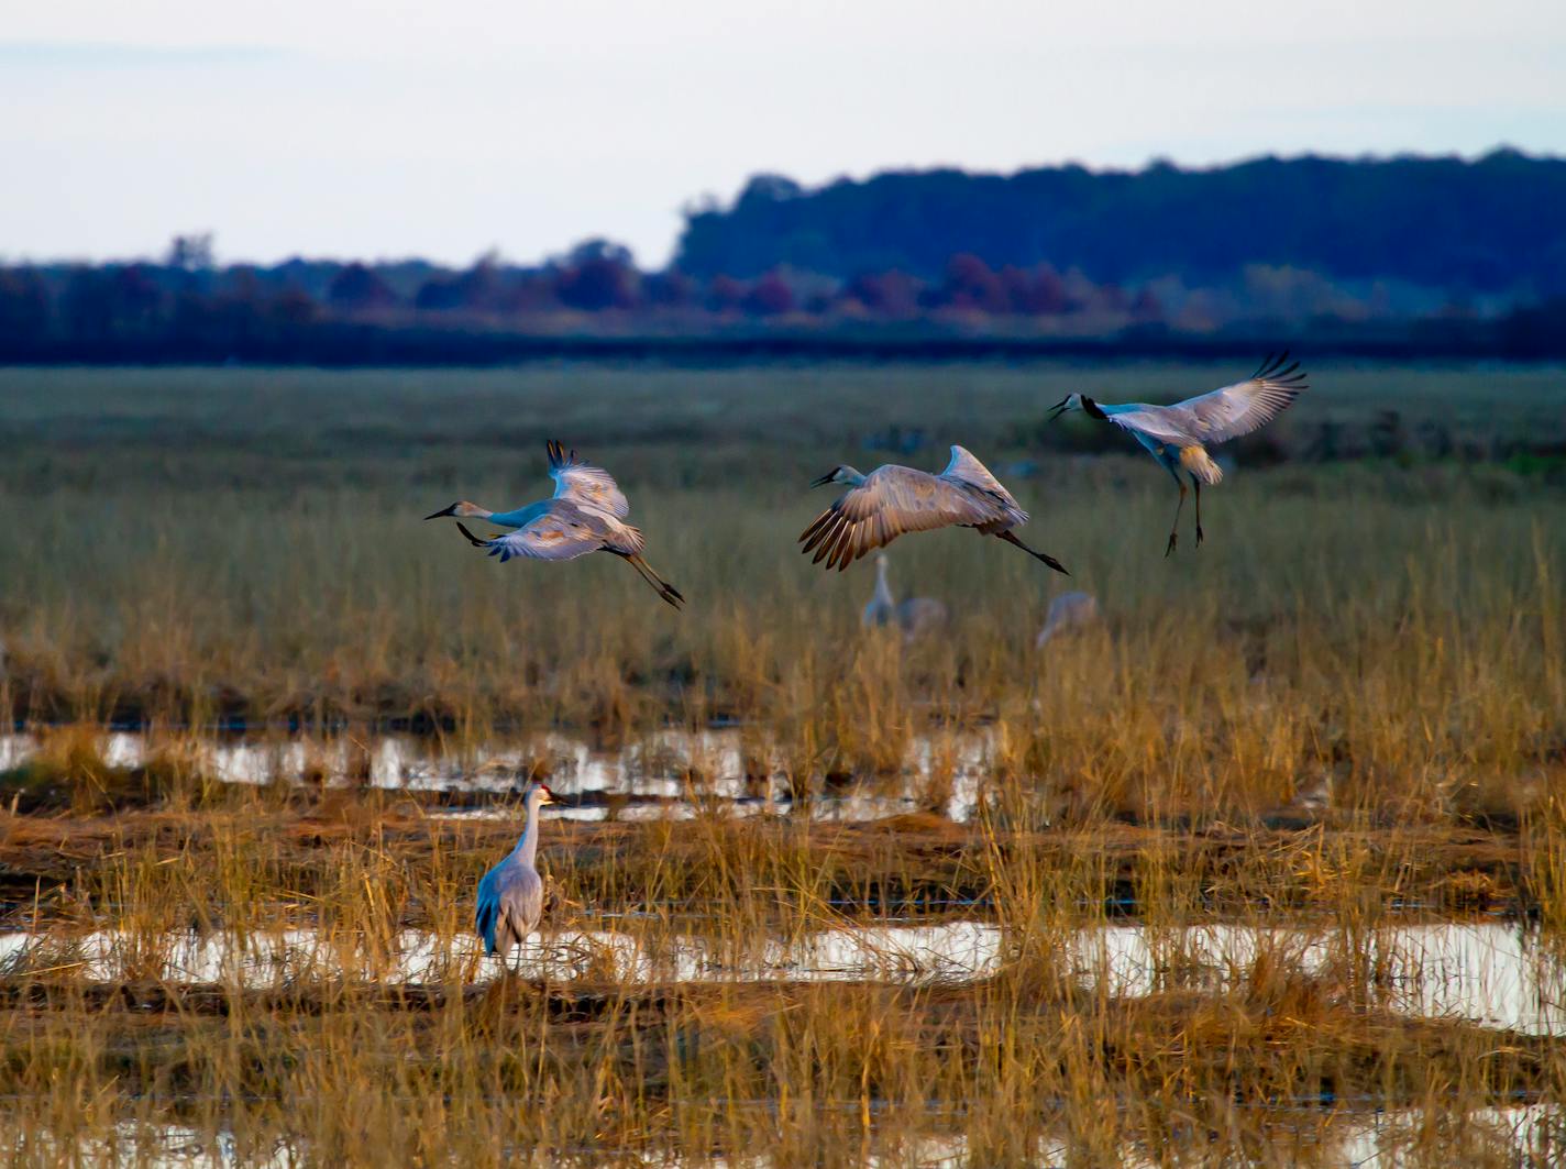
[[1297, 270], [1251, 273], [1239, 290], [1174, 279], [1124, 288], [1048, 263], [991, 268], [971, 252], [949, 257], [935, 279], [889, 270], [833, 280], [786, 268], [700, 279], [639, 271], [601, 243], [543, 268], [489, 257], [460, 271], [310, 260], [0, 268], [0, 360], [506, 360], [725, 337], [769, 353], [889, 345], [886, 356], [952, 351], [958, 337], [998, 353], [1193, 353], [1290, 337], [1356, 353], [1546, 357], [1566, 354], [1566, 296], [1486, 313], [1463, 302], [1370, 312]]

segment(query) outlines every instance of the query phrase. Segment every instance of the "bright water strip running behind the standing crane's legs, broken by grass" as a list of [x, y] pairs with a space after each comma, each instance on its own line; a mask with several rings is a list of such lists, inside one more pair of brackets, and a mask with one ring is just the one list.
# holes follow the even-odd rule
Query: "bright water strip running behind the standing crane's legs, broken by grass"
[[[678, 932], [669, 921], [640, 928], [562, 929], [534, 936], [512, 957], [529, 978], [590, 976], [622, 983], [756, 981], [965, 981], [994, 975], [1012, 950], [1007, 932], [985, 921], [825, 929], [796, 939], [767, 937], [745, 946]], [[1566, 1033], [1563, 970], [1522, 932], [1492, 923], [1400, 926], [1358, 939], [1358, 959], [1377, 972], [1375, 997], [1419, 1017], [1464, 1019], [1528, 1034]], [[149, 953], [149, 950], [152, 953]], [[1062, 973], [1115, 998], [1160, 989], [1225, 993], [1242, 990], [1262, 953], [1292, 962], [1289, 976], [1330, 972], [1347, 951], [1331, 931], [1204, 925], [1148, 931], [1115, 925], [1060, 940]], [[500, 959], [482, 957], [478, 939], [404, 929], [379, 943], [313, 929], [230, 934], [174, 934], [149, 946], [108, 931], [69, 936], [0, 934], [0, 968], [72, 970], [81, 978], [119, 981], [280, 986], [312, 978], [442, 983], [500, 975]]]

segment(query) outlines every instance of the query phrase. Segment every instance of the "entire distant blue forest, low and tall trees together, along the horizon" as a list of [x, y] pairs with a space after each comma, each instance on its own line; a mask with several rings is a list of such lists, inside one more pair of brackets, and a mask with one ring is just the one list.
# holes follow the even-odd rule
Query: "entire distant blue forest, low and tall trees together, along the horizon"
[[752, 179], [669, 268], [294, 259], [0, 265], [0, 360], [490, 362], [570, 353], [1566, 356], [1566, 160]]

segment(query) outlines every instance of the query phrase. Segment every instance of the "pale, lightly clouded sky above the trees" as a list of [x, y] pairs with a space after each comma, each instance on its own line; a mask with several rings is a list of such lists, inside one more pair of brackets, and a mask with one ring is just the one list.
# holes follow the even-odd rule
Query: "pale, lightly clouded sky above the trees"
[[755, 171], [1566, 154], [1566, 3], [0, 0], [0, 257], [661, 263]]

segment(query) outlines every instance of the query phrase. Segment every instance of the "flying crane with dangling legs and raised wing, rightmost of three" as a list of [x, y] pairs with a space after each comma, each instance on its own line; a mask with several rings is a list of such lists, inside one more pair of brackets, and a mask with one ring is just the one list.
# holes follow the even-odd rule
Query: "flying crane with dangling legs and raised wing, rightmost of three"
[[1196, 489], [1196, 547], [1201, 547], [1201, 484], [1212, 486], [1223, 478], [1218, 464], [1207, 454], [1209, 443], [1228, 442], [1250, 434], [1283, 414], [1289, 404], [1308, 390], [1300, 362], [1284, 367], [1289, 354], [1267, 357], [1250, 378], [1234, 385], [1201, 393], [1173, 406], [1146, 406], [1143, 403], [1098, 403], [1081, 393], [1073, 393], [1055, 403], [1054, 422], [1070, 411], [1087, 411], [1090, 418], [1112, 422], [1131, 431], [1148, 453], [1174, 476], [1179, 487], [1179, 503], [1174, 505], [1174, 523], [1170, 542], [1164, 550], [1168, 556], [1179, 539], [1179, 512], [1185, 506], [1185, 484], [1179, 473], [1190, 475]]

